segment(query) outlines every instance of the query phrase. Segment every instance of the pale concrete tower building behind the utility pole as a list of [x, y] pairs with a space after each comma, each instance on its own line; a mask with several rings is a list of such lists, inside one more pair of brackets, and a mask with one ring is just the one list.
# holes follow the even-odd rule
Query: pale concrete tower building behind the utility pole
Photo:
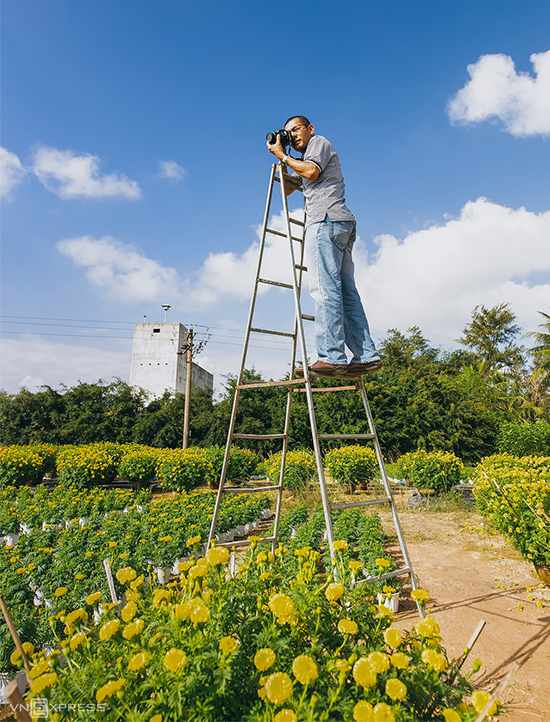
[[[187, 329], [181, 323], [136, 323], [130, 386], [140, 386], [159, 398], [168, 389], [185, 393]], [[211, 389], [214, 377], [193, 364], [191, 384]]]

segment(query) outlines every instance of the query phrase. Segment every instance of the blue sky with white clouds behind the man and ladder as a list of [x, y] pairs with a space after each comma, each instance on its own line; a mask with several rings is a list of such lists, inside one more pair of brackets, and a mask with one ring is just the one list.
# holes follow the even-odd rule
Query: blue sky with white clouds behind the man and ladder
[[[161, 303], [210, 327], [217, 384], [235, 372], [265, 134], [292, 113], [340, 156], [376, 339], [416, 324], [452, 347], [476, 305], [502, 302], [535, 330], [549, 25], [546, 0], [5, 0], [1, 387], [128, 380], [133, 324]], [[272, 291], [262, 313], [280, 327], [290, 309]], [[274, 346], [251, 362], [277, 377]]]

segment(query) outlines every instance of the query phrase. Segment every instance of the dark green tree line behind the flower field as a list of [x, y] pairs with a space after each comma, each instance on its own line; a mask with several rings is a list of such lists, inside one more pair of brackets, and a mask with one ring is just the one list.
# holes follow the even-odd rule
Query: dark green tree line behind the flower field
[[[477, 307], [457, 339], [462, 348], [451, 352], [432, 347], [418, 327], [390, 329], [379, 348], [382, 369], [365, 377], [387, 458], [424, 448], [453, 451], [474, 463], [494, 453], [504, 425], [550, 421], [550, 316], [541, 314], [542, 330], [531, 334], [535, 347], [530, 351], [519, 343], [521, 329], [507, 304]], [[225, 379], [219, 398], [209, 390], [192, 391], [192, 445], [225, 444], [236, 378], [229, 374]], [[265, 380], [255, 369], [246, 371], [246, 379]], [[325, 387], [335, 383], [340, 382], [316, 381]], [[314, 396], [320, 433], [368, 432], [359, 394]], [[280, 433], [286, 399], [282, 387], [242, 392], [236, 430]], [[183, 394], [169, 392], [149, 401], [143, 390], [120, 379], [0, 392], [0, 443], [133, 441], [176, 448], [182, 444], [184, 402]], [[294, 394], [290, 444], [311, 447], [303, 393]], [[277, 450], [265, 441], [246, 445], [262, 453]]]

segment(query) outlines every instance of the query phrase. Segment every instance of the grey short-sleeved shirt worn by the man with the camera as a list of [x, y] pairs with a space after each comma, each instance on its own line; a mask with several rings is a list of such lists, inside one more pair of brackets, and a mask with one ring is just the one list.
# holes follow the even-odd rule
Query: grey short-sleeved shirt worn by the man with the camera
[[355, 216], [346, 207], [344, 178], [332, 144], [322, 135], [314, 135], [302, 160], [314, 163], [321, 171], [316, 180], [302, 177], [306, 225], [323, 221], [327, 214], [331, 221], [354, 221]]

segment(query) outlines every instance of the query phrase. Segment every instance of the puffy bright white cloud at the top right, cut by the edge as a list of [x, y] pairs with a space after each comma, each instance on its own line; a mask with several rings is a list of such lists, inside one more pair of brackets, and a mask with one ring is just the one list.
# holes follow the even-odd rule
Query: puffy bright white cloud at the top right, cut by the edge
[[535, 77], [518, 73], [509, 55], [482, 55], [468, 65], [471, 79], [447, 106], [451, 122], [499, 118], [512, 135], [550, 135], [550, 50], [530, 60]]

